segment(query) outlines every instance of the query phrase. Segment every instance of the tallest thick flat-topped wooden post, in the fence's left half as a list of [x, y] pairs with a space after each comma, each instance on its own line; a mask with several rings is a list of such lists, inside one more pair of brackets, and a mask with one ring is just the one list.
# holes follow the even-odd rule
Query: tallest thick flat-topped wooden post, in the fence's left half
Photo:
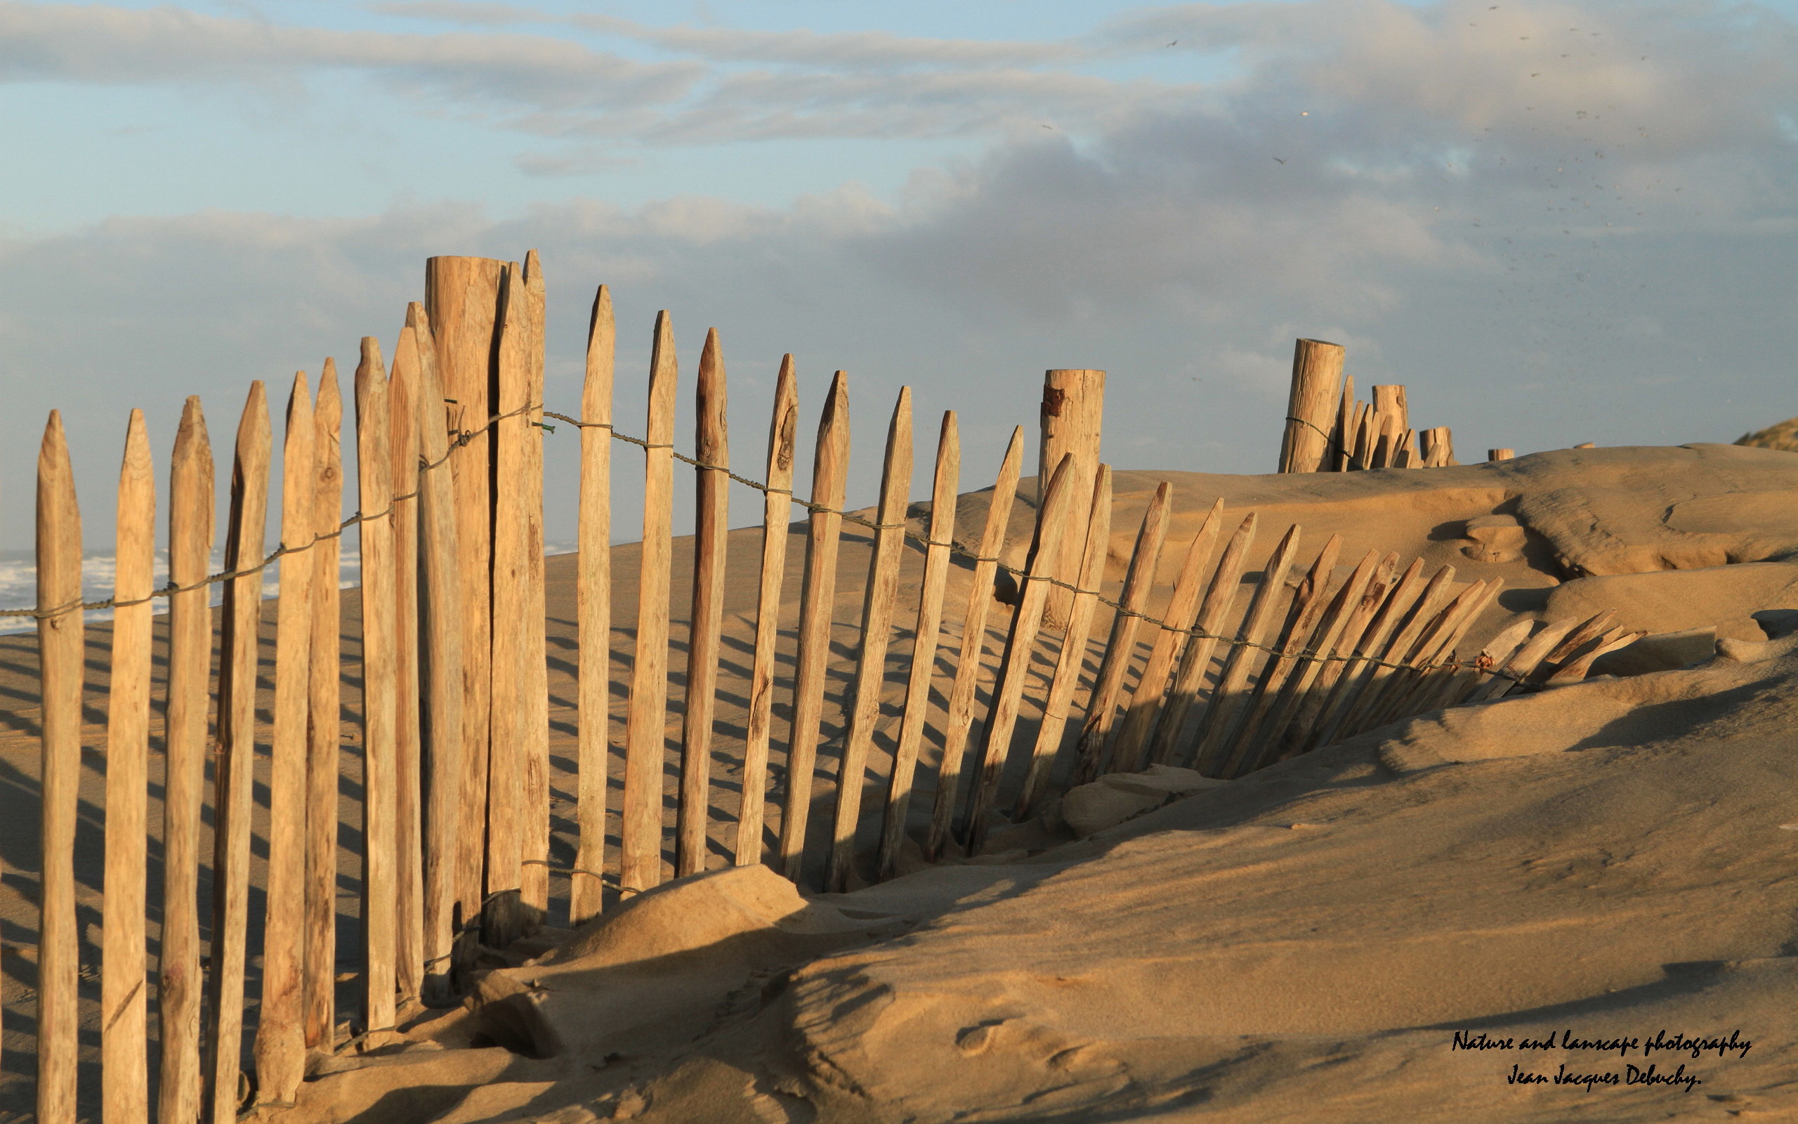
[[480, 912], [487, 824], [487, 725], [493, 707], [493, 414], [491, 383], [500, 273], [491, 257], [424, 263], [424, 311], [437, 343], [437, 378], [450, 424], [469, 433], [450, 457], [455, 480], [457, 565], [462, 584], [462, 818], [457, 825], [457, 923]]

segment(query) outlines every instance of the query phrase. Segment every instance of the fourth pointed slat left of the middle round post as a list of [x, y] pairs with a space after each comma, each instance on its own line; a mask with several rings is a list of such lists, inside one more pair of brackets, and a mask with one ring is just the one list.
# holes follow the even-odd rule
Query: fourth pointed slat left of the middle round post
[[793, 676], [793, 725], [788, 734], [786, 800], [780, 807], [780, 872], [798, 881], [811, 818], [811, 775], [818, 763], [823, 721], [823, 674], [831, 658], [831, 615], [836, 602], [838, 532], [849, 473], [849, 376], [838, 370], [818, 415], [811, 502], [806, 523], [806, 577], [798, 606], [798, 669]]

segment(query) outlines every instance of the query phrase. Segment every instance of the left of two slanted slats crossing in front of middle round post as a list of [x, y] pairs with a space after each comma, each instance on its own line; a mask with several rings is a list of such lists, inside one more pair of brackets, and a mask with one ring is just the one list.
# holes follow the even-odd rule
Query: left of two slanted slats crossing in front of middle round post
[[1012, 617], [1010, 635], [1005, 638], [1000, 674], [992, 683], [992, 705], [987, 709], [987, 721], [982, 725], [975, 784], [967, 793], [967, 854], [980, 854], [980, 849], [987, 842], [987, 818], [998, 802], [1000, 779], [1005, 772], [1005, 761], [1010, 755], [1010, 739], [1018, 725], [1018, 710], [1023, 705], [1023, 685], [1030, 673], [1030, 656], [1036, 653], [1036, 637], [1043, 624], [1048, 590], [1054, 588], [1048, 577], [1057, 572], [1061, 538], [1068, 529], [1068, 509], [1072, 507], [1073, 482], [1077, 478], [1073, 453], [1066, 453], [1061, 464], [1055, 466], [1055, 475], [1050, 477], [1048, 491], [1043, 495], [1041, 518], [1036, 523], [1036, 543], [1030, 547], [1030, 561], [1025, 566], [1028, 577], [1025, 577], [1023, 590], [1019, 590], [1018, 615]]

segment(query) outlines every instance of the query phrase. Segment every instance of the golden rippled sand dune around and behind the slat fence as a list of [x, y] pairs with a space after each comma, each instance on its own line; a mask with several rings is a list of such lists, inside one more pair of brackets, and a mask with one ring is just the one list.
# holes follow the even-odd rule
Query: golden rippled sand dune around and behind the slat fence
[[[723, 870], [739, 802], [741, 638], [759, 541], [757, 531], [735, 532], [735, 642], [714, 772], [719, 870], [611, 908], [539, 960], [487, 975], [466, 1007], [421, 1014], [399, 1047], [333, 1061], [284, 1119], [1798, 1117], [1789, 1084], [1798, 1072], [1798, 638], [1769, 640], [1798, 620], [1798, 558], [1784, 561], [1798, 554], [1798, 457], [1688, 446], [1429, 471], [1118, 473], [1111, 588], [1158, 480], [1174, 482], [1178, 505], [1163, 581], [1205, 507], [1224, 496], [1232, 511], [1260, 513], [1251, 570], [1296, 522], [1305, 561], [1341, 534], [1345, 568], [1379, 549], [1453, 563], [1460, 581], [1503, 577], [1507, 592], [1471, 644], [1518, 613], [1616, 608], [1620, 624], [1652, 633], [1713, 629], [1721, 651], [1705, 658], [1712, 633], [1699, 633], [1694, 667], [1420, 716], [1084, 840], [1050, 813], [996, 831], [989, 854], [966, 865], [807, 897], [761, 867]], [[1034, 496], [1034, 482], [1021, 493]], [[978, 493], [964, 500], [957, 538], [969, 540], [985, 502]], [[1019, 538], [1030, 516], [1019, 505]], [[1467, 520], [1503, 532], [1471, 538]], [[800, 540], [793, 547], [789, 599]], [[834, 707], [850, 674], [867, 568], [865, 540], [847, 547], [827, 737], [841, 734]], [[635, 547], [617, 549], [615, 671], [629, 653], [633, 561]], [[550, 559], [561, 860], [572, 858], [574, 791], [568, 563]], [[910, 556], [903, 597], [915, 599], [919, 568]], [[678, 572], [676, 590], [681, 583]], [[349, 615], [352, 635], [354, 604]], [[793, 606], [782, 626], [791, 642]], [[102, 671], [102, 629], [92, 642]], [[895, 646], [888, 665], [883, 748], [906, 647]], [[16, 809], [0, 829], [11, 953], [0, 1110], [13, 1111], [29, 1110], [32, 1065], [22, 1052], [29, 1038], [14, 1032], [31, 1018], [31, 962], [14, 950], [32, 942], [36, 923], [32, 664], [29, 642], [0, 642], [9, 698], [0, 755]], [[352, 682], [352, 662], [345, 674]], [[95, 723], [102, 687], [90, 696]], [[779, 696], [782, 721], [784, 703]], [[347, 827], [360, 820], [354, 707], [347, 691]], [[671, 714], [671, 734], [678, 728]], [[1028, 732], [1027, 723], [1019, 737]], [[620, 734], [615, 727], [615, 743]], [[777, 723], [777, 746], [782, 734]], [[99, 736], [95, 725], [88, 745]], [[825, 809], [834, 752], [825, 746], [820, 766]], [[88, 764], [86, 811], [97, 816], [102, 754]], [[885, 759], [870, 763], [881, 782], [885, 772]], [[928, 788], [930, 768], [921, 781]], [[672, 782], [669, 773], [671, 793]], [[883, 789], [868, 791], [877, 800]], [[928, 815], [928, 798], [915, 806]], [[88, 908], [99, 887], [95, 822], [77, 856]], [[343, 872], [349, 969], [349, 852]], [[1453, 1048], [1456, 1030], [1512, 1047]], [[1753, 1045], [1643, 1056], [1640, 1041], [1562, 1045], [1562, 1030], [1595, 1041], [1739, 1032], [1737, 1043]], [[1552, 1048], [1518, 1047], [1544, 1034], [1555, 1036]], [[1618, 1081], [1631, 1065], [1654, 1065], [1658, 1077], [1685, 1065], [1683, 1077], [1703, 1084], [1518, 1084], [1507, 1081], [1514, 1065]]]

